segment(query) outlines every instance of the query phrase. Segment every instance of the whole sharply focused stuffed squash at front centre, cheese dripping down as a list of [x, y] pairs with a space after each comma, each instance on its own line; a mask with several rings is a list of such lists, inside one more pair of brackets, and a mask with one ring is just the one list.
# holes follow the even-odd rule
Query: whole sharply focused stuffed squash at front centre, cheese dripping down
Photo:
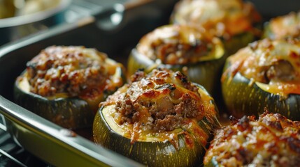
[[180, 72], [138, 71], [102, 102], [94, 141], [147, 166], [201, 165], [218, 112], [206, 90]]

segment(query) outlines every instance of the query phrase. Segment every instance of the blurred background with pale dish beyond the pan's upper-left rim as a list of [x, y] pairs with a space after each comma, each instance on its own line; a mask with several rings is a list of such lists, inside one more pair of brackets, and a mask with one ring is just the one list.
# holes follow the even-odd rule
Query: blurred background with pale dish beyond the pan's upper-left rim
[[0, 46], [138, 0], [0, 0]]

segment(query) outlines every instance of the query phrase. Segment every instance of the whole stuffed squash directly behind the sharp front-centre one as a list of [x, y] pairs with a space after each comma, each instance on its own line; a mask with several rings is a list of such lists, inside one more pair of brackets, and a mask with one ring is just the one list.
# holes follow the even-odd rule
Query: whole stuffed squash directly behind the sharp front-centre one
[[127, 66], [129, 75], [140, 68], [145, 72], [156, 67], [180, 70], [213, 93], [223, 62], [224, 49], [218, 38], [192, 26], [166, 25], [141, 38]]

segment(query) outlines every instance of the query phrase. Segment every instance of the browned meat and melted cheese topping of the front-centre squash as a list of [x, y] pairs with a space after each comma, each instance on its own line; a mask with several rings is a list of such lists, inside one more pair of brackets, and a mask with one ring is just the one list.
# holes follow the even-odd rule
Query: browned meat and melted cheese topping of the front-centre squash
[[[185, 136], [188, 146], [194, 142], [205, 146], [215, 122], [217, 111], [213, 98], [191, 84], [180, 72], [154, 70], [125, 85], [106, 102], [103, 115], [111, 128], [135, 141], [170, 141], [178, 148], [178, 135]], [[211, 125], [199, 126], [203, 119]], [[188, 140], [190, 138], [190, 140]]]

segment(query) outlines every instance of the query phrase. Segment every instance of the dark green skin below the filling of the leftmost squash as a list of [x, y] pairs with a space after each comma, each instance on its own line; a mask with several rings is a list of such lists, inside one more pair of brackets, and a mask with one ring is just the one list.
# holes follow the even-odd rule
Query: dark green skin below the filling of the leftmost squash
[[41, 95], [25, 92], [17, 81], [14, 100], [25, 109], [68, 129], [91, 127], [94, 119], [94, 111], [85, 100], [78, 97], [48, 100]]

